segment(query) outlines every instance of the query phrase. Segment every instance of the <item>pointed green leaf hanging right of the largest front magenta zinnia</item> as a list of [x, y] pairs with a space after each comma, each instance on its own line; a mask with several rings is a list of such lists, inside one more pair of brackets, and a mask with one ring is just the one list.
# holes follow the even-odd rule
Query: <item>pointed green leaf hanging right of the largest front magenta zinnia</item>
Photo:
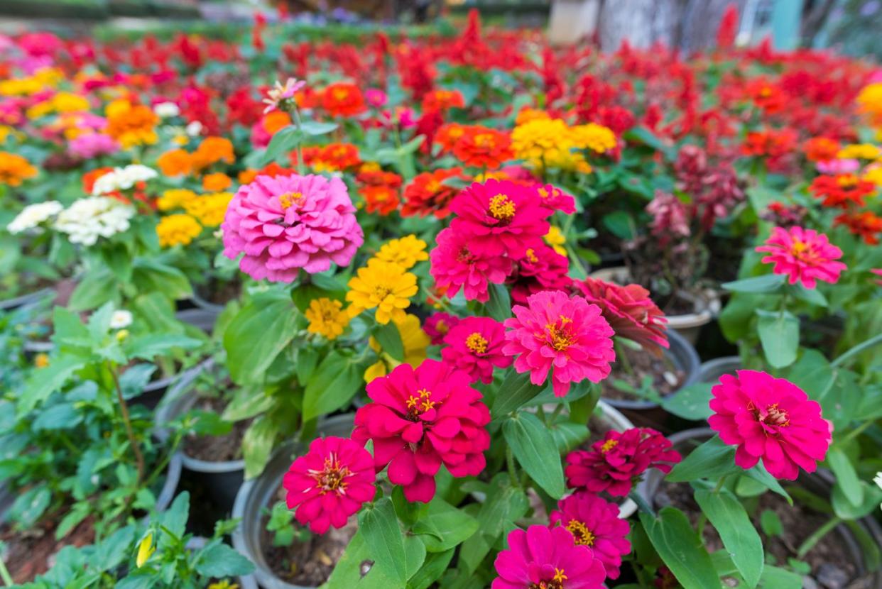
[[564, 496], [564, 468], [554, 436], [534, 414], [520, 412], [502, 426], [509, 444], [527, 474], [554, 499]]

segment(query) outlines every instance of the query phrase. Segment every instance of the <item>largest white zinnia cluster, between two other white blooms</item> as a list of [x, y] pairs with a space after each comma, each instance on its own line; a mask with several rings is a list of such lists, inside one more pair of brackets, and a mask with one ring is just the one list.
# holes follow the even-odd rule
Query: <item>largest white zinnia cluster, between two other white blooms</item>
[[108, 197], [80, 198], [58, 214], [55, 228], [71, 243], [94, 245], [99, 237], [110, 237], [129, 228], [135, 209]]

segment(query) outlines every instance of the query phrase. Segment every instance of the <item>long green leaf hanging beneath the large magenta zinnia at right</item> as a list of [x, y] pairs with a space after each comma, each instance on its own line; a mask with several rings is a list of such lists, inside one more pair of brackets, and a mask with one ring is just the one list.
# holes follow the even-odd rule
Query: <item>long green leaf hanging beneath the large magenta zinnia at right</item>
[[699, 489], [695, 491], [695, 501], [720, 533], [722, 544], [732, 556], [744, 582], [749, 587], [757, 586], [765, 562], [763, 541], [753, 528], [744, 506], [726, 489], [719, 493]]

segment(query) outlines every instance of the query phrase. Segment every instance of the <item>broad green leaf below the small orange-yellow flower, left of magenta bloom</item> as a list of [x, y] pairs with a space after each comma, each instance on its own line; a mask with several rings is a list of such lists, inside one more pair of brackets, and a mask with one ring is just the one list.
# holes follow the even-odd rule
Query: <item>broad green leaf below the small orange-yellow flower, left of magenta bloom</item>
[[336, 350], [325, 356], [303, 391], [303, 419], [329, 414], [355, 397], [364, 386], [364, 367]]

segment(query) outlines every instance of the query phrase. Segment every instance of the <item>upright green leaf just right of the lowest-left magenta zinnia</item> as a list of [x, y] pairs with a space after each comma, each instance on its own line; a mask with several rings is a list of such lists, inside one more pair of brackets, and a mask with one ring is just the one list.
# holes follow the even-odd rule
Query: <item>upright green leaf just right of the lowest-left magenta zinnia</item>
[[358, 515], [359, 532], [370, 547], [370, 555], [386, 575], [397, 581], [397, 586], [407, 581], [407, 556], [404, 536], [392, 507], [392, 500], [383, 497], [372, 506], [363, 508]]

